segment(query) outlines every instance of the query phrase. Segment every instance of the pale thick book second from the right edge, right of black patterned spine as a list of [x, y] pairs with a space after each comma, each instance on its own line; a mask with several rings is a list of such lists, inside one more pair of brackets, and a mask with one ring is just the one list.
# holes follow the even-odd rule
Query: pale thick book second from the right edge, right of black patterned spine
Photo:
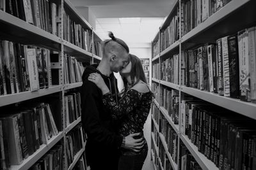
[[251, 101], [248, 30], [238, 32], [240, 99]]

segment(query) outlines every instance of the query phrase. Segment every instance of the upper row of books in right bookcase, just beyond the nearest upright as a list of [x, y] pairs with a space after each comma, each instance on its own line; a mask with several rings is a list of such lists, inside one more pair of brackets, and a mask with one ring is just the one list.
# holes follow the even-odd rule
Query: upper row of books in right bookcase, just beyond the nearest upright
[[164, 31], [161, 31], [161, 52], [163, 52], [168, 46], [179, 40], [179, 6], [175, 8], [170, 20], [170, 25]]

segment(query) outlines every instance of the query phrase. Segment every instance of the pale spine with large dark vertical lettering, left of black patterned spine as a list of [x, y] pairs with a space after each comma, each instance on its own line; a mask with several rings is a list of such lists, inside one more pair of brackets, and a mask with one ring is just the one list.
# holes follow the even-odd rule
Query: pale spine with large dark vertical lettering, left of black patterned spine
[[230, 80], [229, 80], [229, 62], [228, 62], [228, 38], [221, 38], [222, 41], [222, 57], [223, 57], [223, 83], [224, 96], [230, 97]]

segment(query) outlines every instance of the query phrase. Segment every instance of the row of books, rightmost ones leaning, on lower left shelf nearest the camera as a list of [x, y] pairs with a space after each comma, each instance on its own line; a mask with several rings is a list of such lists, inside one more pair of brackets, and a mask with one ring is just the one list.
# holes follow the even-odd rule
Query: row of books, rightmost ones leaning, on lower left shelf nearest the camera
[[41, 145], [47, 145], [52, 136], [58, 134], [48, 103], [3, 108], [1, 112], [1, 169], [22, 164]]

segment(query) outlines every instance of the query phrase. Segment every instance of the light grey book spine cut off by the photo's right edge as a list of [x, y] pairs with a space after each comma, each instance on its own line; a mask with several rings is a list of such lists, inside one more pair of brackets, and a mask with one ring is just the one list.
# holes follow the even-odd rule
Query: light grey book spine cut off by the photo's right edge
[[256, 103], [256, 27], [252, 27], [248, 29], [248, 31], [251, 77], [251, 101], [252, 103]]

